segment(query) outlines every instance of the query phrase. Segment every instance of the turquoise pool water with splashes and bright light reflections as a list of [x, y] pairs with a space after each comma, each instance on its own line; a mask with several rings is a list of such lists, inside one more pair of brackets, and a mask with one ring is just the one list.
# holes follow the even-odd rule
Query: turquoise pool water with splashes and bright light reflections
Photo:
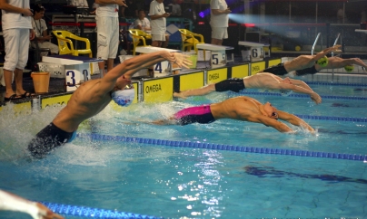
[[[246, 92], [296, 115], [367, 118], [366, 100], [343, 98], [363, 97], [363, 90], [329, 85], [312, 85], [312, 89], [339, 98], [323, 99], [322, 104], [315, 105], [307, 97]], [[144, 122], [236, 95], [239, 94], [211, 93], [187, 100], [138, 103], [126, 109], [108, 107], [84, 122], [78, 132], [367, 154], [367, 123], [363, 120], [304, 119], [318, 130], [316, 135], [296, 127], [293, 129], [298, 134], [287, 135], [261, 124], [231, 119], [184, 127]], [[5, 116], [6, 109], [0, 111], [0, 188], [37, 201], [165, 218], [367, 217], [367, 164], [362, 161], [76, 138], [45, 159], [29, 162], [24, 155], [26, 142], [59, 109], [45, 109], [26, 118]], [[18, 214], [1, 212], [0, 218], [15, 215]]]

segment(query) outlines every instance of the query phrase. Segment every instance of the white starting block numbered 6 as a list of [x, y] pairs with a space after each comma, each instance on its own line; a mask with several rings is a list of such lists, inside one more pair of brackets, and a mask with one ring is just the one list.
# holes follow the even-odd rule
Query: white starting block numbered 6
[[[253, 43], [248, 41], [239, 41], [239, 45], [250, 47], [248, 51], [241, 51], [243, 55], [243, 61], [258, 62], [263, 61], [263, 58], [270, 57], [270, 44]], [[263, 52], [263, 47], [268, 47], [268, 52]]]

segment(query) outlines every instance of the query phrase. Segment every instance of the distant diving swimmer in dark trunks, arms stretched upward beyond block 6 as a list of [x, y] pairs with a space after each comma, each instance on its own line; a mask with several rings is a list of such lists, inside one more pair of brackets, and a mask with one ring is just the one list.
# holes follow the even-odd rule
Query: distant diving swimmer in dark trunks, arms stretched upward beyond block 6
[[312, 68], [316, 61], [323, 58], [326, 54], [330, 52], [341, 52], [339, 48], [341, 45], [334, 45], [332, 47], [324, 49], [322, 52], [318, 52], [315, 55], [300, 55], [294, 58], [290, 62], [280, 63], [271, 68], [267, 68], [260, 72], [269, 72], [275, 75], [284, 75], [291, 71], [299, 71], [307, 68]]

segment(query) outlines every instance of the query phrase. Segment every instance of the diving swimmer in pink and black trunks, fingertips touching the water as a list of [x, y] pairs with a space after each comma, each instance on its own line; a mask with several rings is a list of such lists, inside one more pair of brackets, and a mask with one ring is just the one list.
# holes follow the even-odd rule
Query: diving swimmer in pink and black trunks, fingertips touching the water
[[263, 123], [263, 125], [273, 127], [280, 132], [295, 133], [295, 131], [286, 124], [278, 121], [278, 119], [282, 119], [294, 126], [307, 129], [314, 133], [314, 129], [303, 121], [303, 119], [274, 108], [270, 102], [262, 104], [258, 100], [244, 96], [230, 98], [210, 105], [182, 109], [169, 119], [158, 119], [149, 123], [155, 125], [184, 126], [195, 122], [202, 124], [212, 123], [218, 119], [236, 119]]

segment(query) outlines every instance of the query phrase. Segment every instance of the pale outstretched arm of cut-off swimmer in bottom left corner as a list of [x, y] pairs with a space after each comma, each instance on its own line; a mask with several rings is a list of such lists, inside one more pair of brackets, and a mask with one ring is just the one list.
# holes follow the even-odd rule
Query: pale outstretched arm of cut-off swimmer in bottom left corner
[[64, 217], [53, 213], [45, 205], [28, 201], [17, 195], [0, 190], [0, 210], [23, 212], [30, 214], [34, 219], [63, 219]]

